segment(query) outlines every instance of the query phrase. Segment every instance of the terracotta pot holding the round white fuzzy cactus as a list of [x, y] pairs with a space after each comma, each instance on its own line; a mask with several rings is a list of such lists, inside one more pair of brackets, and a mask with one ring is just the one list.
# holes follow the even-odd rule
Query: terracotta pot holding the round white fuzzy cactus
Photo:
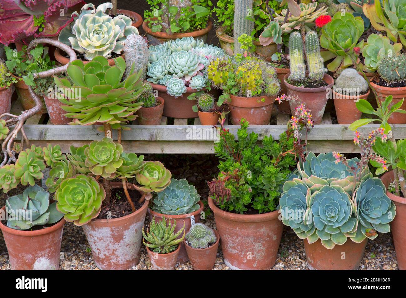
[[362, 112], [356, 107], [359, 99], [367, 99], [370, 90], [361, 96], [347, 96], [333, 90], [335, 113], [339, 124], [351, 124], [355, 120], [361, 119]]

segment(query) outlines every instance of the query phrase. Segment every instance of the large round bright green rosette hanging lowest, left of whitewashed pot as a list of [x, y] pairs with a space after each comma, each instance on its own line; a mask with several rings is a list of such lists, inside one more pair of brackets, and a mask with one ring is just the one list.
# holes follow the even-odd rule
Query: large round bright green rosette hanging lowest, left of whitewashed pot
[[106, 197], [102, 185], [91, 176], [78, 174], [63, 180], [55, 192], [56, 209], [75, 225], [84, 225], [96, 218]]

